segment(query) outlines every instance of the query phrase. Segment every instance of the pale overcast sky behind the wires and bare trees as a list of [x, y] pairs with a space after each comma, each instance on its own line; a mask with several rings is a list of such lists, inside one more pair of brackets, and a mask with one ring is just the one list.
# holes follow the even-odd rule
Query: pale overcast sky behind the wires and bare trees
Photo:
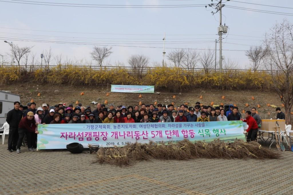
[[[228, 50], [248, 50], [250, 46], [260, 45], [265, 32], [268, 32], [276, 21], [282, 22], [287, 18], [292, 22], [293, 1], [239, 1], [246, 3], [223, 1], [226, 7], [222, 9], [222, 22], [229, 26], [228, 33], [223, 35], [223, 56], [225, 60], [235, 61], [241, 68], [247, 69], [249, 61], [245, 52]], [[212, 15], [214, 9], [201, 6], [212, 3], [211, 0], [47, 0], [44, 2], [59, 4], [49, 6], [48, 4], [33, 5], [44, 4], [33, 1], [0, 1], [1, 55], [9, 55], [10, 48], [4, 40], [19, 46], [33, 46], [32, 52], [39, 61], [40, 54], [50, 47], [54, 56], [62, 54], [63, 60], [67, 57], [73, 61], [91, 61], [90, 52], [94, 45], [112, 45], [113, 54], [105, 64], [115, 65], [120, 62], [128, 66], [127, 59], [133, 54], [143, 54], [149, 57], [151, 63], [161, 63], [164, 32], [166, 32], [166, 55], [171, 52], [170, 48], [191, 48], [197, 49], [198, 52], [204, 51], [202, 49], [214, 49], [215, 39], [219, 38], [217, 35], [219, 12]], [[85, 5], [73, 4], [96, 5], [76, 7]], [[105, 6], [100, 8], [99, 5], [109, 5], [111, 8]], [[122, 5], [129, 7], [113, 8]], [[169, 8], [158, 8], [159, 5], [168, 5]], [[176, 6], [170, 8], [172, 7], [170, 5]], [[146, 6], [157, 7], [146, 8]], [[241, 10], [243, 8], [254, 11]], [[260, 10], [279, 13], [261, 13]], [[4, 61], [10, 62], [10, 60], [11, 57], [4, 57]], [[52, 63], [54, 64], [55, 61], [53, 60]], [[93, 64], [97, 63], [93, 61]]]

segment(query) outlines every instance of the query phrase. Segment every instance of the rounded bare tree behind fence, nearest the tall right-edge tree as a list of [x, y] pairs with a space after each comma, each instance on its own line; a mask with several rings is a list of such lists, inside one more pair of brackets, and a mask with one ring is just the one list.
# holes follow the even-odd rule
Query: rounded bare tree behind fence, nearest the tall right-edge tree
[[267, 49], [263, 49], [262, 46], [251, 46], [248, 51], [245, 51], [245, 55], [252, 62], [252, 69], [254, 72], [258, 70], [260, 62], [267, 53]]

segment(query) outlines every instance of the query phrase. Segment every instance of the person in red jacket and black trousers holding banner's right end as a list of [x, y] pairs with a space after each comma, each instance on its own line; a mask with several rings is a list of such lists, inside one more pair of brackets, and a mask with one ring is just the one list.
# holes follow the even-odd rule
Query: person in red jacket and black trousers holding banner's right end
[[247, 142], [254, 141], [257, 139], [258, 125], [256, 120], [251, 116], [251, 111], [246, 111], [245, 118], [243, 122], [246, 122], [248, 125], [248, 129], [243, 133], [247, 133]]

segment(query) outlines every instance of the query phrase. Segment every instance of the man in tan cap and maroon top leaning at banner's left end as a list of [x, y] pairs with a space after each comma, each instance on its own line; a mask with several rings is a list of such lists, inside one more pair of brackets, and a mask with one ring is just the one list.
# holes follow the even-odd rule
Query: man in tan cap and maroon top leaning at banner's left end
[[[23, 137], [26, 134], [27, 142], [28, 142], [28, 150], [35, 151], [37, 148], [36, 137], [35, 135], [39, 132], [35, 130], [35, 117], [33, 112], [28, 112], [25, 117], [23, 117], [18, 125], [18, 141], [16, 146], [16, 153], [20, 153], [21, 143], [23, 141]], [[35, 135], [34, 135], [35, 134]]]

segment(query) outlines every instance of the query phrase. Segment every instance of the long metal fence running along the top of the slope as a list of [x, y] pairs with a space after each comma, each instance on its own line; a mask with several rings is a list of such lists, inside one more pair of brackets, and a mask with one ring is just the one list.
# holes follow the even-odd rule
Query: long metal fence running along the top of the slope
[[[2, 65], [1, 67], [18, 67], [18, 65]], [[98, 66], [98, 65], [49, 65], [49, 67], [45, 66], [45, 65], [21, 65], [19, 66], [19, 68], [21, 68], [21, 70], [24, 71], [34, 71], [34, 70], [38, 70], [38, 69], [43, 69], [44, 71], [50, 71], [52, 69], [66, 69], [69, 67], [76, 67], [76, 68], [89, 68], [91, 70], [95, 70], [95, 71], [113, 71], [113, 70], [119, 70], [119, 69], [123, 69], [123, 70], [127, 70], [128, 73], [130, 74], [137, 74], [138, 70], [131, 67], [131, 66]], [[162, 68], [162, 67], [145, 67], [142, 70], [139, 71], [139, 73], [141, 74], [147, 74], [149, 72], [151, 72], [152, 70], [157, 70], [158, 68]], [[164, 68], [168, 68], [170, 70], [175, 69], [172, 67], [164, 67]], [[198, 73], [213, 73], [213, 72], [219, 72], [219, 69], [204, 69], [204, 68], [176, 68], [176, 70], [180, 70], [180, 71], [188, 71], [189, 73], [193, 73], [193, 74], [198, 74]], [[231, 75], [237, 74], [239, 72], [248, 72], [248, 71], [252, 71], [250, 69], [222, 69], [222, 73], [229, 73]], [[278, 73], [277, 70], [256, 70], [255, 72], [259, 72], [259, 73], [267, 73], [267, 74], [271, 74], [273, 73], [274, 75]]]

